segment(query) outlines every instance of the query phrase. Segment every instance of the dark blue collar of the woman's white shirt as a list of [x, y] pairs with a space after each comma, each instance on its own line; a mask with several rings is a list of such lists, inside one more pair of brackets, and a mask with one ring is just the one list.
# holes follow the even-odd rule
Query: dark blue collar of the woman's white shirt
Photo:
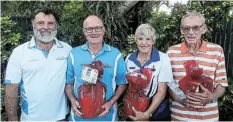
[[129, 56], [129, 60], [133, 61], [138, 67], [141, 68], [144, 68], [145, 66], [151, 64], [152, 62], [160, 61], [159, 51], [157, 49], [152, 49], [150, 60], [148, 60], [143, 66], [141, 66], [140, 62], [137, 60], [137, 55], [138, 55], [138, 50]]

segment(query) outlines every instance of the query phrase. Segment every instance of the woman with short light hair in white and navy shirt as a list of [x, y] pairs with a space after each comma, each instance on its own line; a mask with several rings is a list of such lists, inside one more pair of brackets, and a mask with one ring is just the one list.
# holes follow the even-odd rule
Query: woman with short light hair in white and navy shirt
[[149, 97], [150, 105], [145, 112], [133, 109], [136, 116], [132, 120], [169, 121], [167, 82], [171, 82], [172, 70], [167, 54], [153, 48], [156, 36], [155, 29], [149, 24], [141, 24], [135, 32], [138, 50], [126, 58], [127, 72], [149, 68], [153, 71], [149, 85], [144, 94]]

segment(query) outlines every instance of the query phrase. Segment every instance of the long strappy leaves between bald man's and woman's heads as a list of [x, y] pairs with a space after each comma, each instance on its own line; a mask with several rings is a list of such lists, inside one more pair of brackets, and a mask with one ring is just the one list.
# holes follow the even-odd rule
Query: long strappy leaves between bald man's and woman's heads
[[85, 1], [91, 14], [98, 15], [104, 22], [105, 41], [122, 49], [122, 43], [127, 36], [126, 19], [119, 14], [118, 8], [122, 1]]

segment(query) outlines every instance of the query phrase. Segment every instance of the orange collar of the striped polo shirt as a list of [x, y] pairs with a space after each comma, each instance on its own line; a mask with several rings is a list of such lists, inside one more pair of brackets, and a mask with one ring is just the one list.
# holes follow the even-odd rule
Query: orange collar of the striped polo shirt
[[[199, 51], [200, 51], [200, 52], [206, 52], [207, 50], [208, 50], [208, 49], [207, 49], [207, 42], [204, 41], [204, 40], [202, 40], [202, 42], [201, 42], [201, 47], [200, 47]], [[182, 52], [182, 53], [188, 53], [188, 52], [189, 52], [189, 49], [188, 49], [188, 47], [187, 47], [185, 41], [183, 41], [183, 42], [181, 43], [181, 52]]]

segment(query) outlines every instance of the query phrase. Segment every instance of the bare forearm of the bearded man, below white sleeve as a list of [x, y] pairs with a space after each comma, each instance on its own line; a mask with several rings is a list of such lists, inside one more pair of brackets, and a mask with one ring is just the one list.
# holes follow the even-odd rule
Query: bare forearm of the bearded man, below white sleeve
[[9, 84], [5, 87], [5, 108], [8, 121], [18, 121], [18, 84]]

